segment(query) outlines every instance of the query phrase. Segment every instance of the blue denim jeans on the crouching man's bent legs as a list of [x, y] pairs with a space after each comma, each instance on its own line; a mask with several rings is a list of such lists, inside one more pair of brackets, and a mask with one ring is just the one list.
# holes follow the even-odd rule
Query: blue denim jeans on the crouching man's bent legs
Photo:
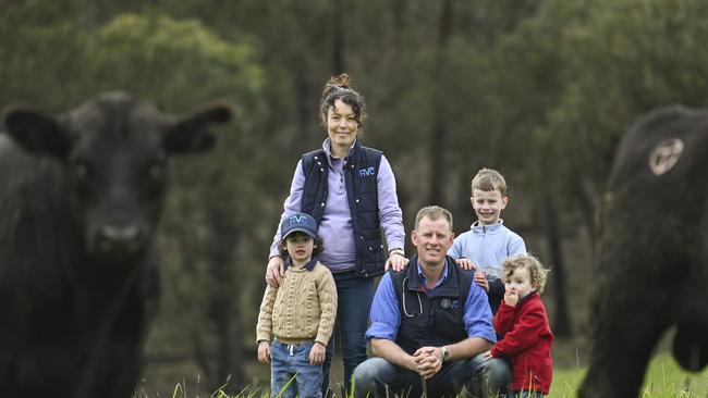
[[396, 366], [382, 358], [370, 358], [354, 372], [355, 397], [455, 397], [466, 387], [468, 397], [487, 398], [504, 394], [511, 384], [511, 366], [503, 359], [475, 358], [445, 363], [435, 376], [423, 381], [418, 373]]

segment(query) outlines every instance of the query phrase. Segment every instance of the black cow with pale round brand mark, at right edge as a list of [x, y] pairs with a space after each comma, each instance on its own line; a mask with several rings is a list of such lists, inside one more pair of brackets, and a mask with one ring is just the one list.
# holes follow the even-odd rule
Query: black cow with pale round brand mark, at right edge
[[636, 397], [657, 341], [708, 362], [708, 111], [642, 117], [622, 139], [602, 208], [595, 340], [581, 397]]

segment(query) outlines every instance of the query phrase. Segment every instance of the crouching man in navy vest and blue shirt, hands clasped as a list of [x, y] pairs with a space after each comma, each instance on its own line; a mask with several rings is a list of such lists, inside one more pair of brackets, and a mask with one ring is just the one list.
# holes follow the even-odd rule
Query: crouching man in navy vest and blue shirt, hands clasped
[[509, 363], [481, 355], [497, 339], [487, 295], [447, 256], [452, 215], [422, 209], [411, 237], [417, 256], [384, 274], [374, 297], [366, 337], [378, 358], [354, 371], [355, 396], [454, 397], [463, 386], [472, 397], [505, 393]]

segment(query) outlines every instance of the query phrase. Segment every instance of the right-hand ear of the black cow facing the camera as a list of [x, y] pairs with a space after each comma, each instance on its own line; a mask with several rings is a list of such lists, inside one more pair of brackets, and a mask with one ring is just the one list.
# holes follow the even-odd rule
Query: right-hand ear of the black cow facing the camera
[[212, 123], [231, 120], [231, 107], [211, 103], [181, 117], [163, 138], [164, 149], [170, 153], [197, 153], [211, 147], [216, 138], [208, 127]]

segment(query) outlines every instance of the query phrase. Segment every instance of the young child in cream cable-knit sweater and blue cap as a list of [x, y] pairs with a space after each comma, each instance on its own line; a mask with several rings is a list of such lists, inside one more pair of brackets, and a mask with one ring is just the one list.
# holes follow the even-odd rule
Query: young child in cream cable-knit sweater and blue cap
[[271, 397], [321, 397], [321, 364], [337, 316], [337, 287], [331, 272], [313, 258], [322, 250], [315, 219], [295, 213], [280, 228], [285, 277], [280, 287], [266, 288], [260, 303], [258, 360], [270, 363]]

